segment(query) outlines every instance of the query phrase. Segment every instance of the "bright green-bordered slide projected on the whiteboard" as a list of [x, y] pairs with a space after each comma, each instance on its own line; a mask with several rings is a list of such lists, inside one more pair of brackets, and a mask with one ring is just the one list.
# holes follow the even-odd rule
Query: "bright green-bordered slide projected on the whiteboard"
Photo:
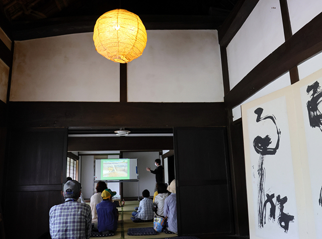
[[103, 180], [129, 179], [128, 160], [102, 160], [101, 170]]

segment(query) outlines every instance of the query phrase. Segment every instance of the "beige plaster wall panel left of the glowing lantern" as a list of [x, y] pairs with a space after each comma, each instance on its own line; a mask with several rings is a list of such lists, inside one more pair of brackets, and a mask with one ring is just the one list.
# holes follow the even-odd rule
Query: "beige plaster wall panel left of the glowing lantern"
[[92, 37], [15, 42], [10, 100], [118, 102], [119, 63], [97, 53]]

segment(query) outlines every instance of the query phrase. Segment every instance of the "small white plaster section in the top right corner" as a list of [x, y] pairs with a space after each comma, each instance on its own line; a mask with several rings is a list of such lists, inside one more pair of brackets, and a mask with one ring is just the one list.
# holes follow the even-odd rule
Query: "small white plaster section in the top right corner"
[[293, 34], [322, 12], [321, 0], [287, 0]]

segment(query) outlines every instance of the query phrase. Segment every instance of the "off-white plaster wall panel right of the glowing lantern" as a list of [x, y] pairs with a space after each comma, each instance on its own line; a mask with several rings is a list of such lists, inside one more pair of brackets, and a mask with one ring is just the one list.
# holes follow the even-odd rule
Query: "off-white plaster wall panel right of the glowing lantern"
[[148, 30], [128, 63], [129, 102], [223, 102], [216, 30]]

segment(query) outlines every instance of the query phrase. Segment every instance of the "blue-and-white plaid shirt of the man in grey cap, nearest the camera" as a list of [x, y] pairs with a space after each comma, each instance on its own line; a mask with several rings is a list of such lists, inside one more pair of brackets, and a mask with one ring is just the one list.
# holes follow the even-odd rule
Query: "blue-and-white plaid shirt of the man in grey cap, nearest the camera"
[[91, 207], [68, 198], [50, 209], [49, 228], [53, 239], [88, 239], [92, 230]]

